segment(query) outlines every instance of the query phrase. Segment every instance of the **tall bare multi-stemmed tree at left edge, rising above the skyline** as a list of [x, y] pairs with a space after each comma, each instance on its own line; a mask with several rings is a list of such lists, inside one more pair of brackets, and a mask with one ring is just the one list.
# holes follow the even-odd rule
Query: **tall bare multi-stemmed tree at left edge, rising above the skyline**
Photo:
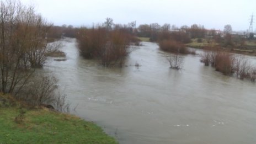
[[33, 7], [19, 1], [1, 1], [0, 87], [2, 93], [17, 94], [28, 82], [34, 67], [46, 60], [46, 34], [50, 25]]

